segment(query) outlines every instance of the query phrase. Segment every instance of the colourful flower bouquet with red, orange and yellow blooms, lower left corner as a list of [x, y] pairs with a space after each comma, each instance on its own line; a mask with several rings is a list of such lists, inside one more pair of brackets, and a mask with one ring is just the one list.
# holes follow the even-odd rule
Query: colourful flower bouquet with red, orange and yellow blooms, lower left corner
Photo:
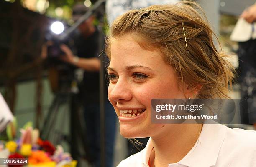
[[65, 153], [60, 145], [54, 147], [48, 140], [41, 140], [39, 130], [33, 129], [31, 123], [20, 132], [18, 140], [0, 141], [0, 158], [26, 159], [27, 163], [9, 164], [8, 167], [76, 167], [77, 161], [72, 160], [70, 154]]

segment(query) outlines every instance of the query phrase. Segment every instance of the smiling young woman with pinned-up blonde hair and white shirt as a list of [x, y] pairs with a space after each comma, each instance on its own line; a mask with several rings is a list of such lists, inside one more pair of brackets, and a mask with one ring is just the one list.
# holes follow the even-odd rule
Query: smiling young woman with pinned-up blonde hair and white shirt
[[256, 132], [151, 122], [151, 99], [228, 98], [233, 67], [195, 9], [203, 13], [194, 2], [153, 5], [128, 11], [110, 27], [108, 98], [120, 133], [150, 137], [144, 150], [118, 167], [256, 165]]

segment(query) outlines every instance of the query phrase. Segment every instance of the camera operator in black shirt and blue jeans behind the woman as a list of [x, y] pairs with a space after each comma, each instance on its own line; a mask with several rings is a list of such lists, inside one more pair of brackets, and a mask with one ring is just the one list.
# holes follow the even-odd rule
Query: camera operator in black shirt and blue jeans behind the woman
[[[89, 8], [83, 4], [73, 7], [72, 19], [77, 21]], [[93, 25], [94, 16], [90, 16], [78, 27], [79, 38], [74, 45], [77, 48], [76, 55], [67, 45], [61, 45], [65, 53], [61, 60], [84, 70], [84, 78], [80, 91], [83, 94], [84, 118], [87, 129], [88, 154], [92, 158], [92, 164], [100, 167], [100, 97], [99, 97], [99, 70], [101, 50], [98, 49], [100, 32]], [[107, 88], [107, 84], [105, 84]], [[105, 91], [107, 92], [107, 91]], [[113, 146], [115, 142], [115, 112], [105, 95], [105, 166], [113, 167]]]

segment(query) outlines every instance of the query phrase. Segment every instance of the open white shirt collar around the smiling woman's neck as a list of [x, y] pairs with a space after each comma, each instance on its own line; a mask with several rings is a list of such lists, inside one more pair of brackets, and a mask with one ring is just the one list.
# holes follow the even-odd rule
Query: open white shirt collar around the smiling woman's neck
[[[188, 167], [214, 166], [217, 162], [220, 147], [225, 139], [226, 130], [227, 127], [218, 123], [204, 124], [200, 137], [195, 145], [182, 160], [177, 162], [177, 164]], [[151, 138], [149, 138], [145, 149], [142, 150], [143, 166], [148, 166], [148, 160], [152, 149], [153, 144]], [[169, 164], [169, 166], [171, 167], [172, 165]]]

